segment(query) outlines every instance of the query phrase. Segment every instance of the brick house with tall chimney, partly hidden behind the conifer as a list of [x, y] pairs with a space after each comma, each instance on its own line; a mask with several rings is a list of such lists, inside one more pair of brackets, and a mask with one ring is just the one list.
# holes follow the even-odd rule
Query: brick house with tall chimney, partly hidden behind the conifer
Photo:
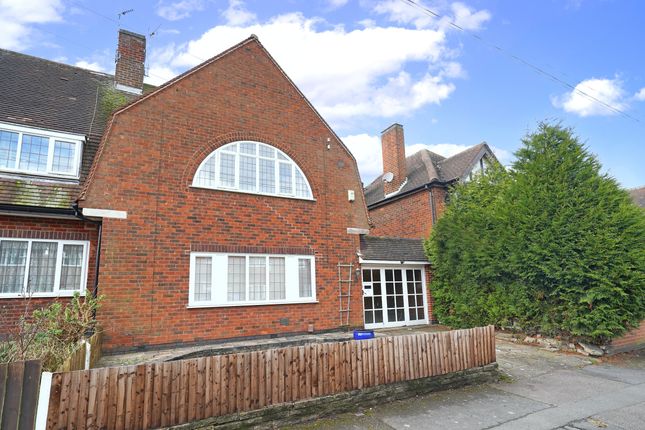
[[375, 236], [427, 238], [444, 211], [450, 186], [498, 163], [486, 143], [448, 158], [426, 149], [406, 157], [400, 124], [382, 132], [381, 150], [383, 174], [365, 187]]

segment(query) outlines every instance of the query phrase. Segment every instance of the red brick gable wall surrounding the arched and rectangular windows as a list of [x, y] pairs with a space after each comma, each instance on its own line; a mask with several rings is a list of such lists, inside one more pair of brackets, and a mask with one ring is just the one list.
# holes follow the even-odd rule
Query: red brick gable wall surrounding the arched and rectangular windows
[[[315, 201], [191, 188], [202, 160], [237, 140], [288, 154]], [[117, 114], [101, 151], [82, 205], [128, 212], [104, 223], [106, 349], [338, 327], [336, 264], [357, 264], [359, 246], [346, 229], [368, 227], [357, 167], [257, 42]], [[201, 247], [310, 250], [319, 303], [188, 309], [189, 253]]]

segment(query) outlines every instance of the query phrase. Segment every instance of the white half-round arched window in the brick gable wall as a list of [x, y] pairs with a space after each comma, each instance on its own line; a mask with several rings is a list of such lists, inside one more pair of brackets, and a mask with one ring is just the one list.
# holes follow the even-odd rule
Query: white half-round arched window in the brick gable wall
[[213, 151], [197, 169], [193, 186], [312, 200], [300, 167], [284, 152], [260, 142], [233, 142]]

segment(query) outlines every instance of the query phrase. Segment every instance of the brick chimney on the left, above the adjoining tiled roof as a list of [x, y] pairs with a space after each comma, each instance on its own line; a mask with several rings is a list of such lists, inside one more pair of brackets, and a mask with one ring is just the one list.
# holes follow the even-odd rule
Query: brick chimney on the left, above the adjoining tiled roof
[[114, 85], [117, 89], [134, 94], [143, 92], [146, 61], [146, 37], [127, 30], [119, 30], [116, 50]]

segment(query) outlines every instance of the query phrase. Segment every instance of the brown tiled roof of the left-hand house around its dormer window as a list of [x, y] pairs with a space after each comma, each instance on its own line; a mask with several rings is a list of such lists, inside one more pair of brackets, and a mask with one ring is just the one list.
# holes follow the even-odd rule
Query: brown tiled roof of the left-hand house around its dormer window
[[0, 49], [0, 122], [87, 137], [79, 181], [2, 174], [0, 204], [69, 208], [78, 196], [115, 101], [114, 77]]

